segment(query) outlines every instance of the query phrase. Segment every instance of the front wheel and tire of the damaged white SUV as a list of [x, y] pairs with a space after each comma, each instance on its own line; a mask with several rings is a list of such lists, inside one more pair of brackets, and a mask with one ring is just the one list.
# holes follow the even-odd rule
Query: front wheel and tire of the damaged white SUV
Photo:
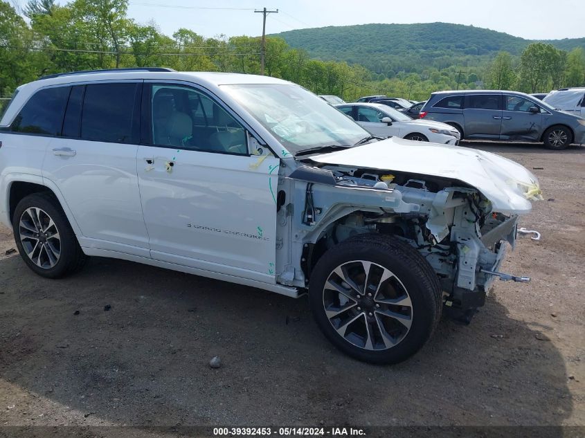
[[390, 364], [415, 354], [440, 320], [437, 275], [412, 246], [366, 234], [330, 248], [309, 282], [323, 334], [359, 361]]

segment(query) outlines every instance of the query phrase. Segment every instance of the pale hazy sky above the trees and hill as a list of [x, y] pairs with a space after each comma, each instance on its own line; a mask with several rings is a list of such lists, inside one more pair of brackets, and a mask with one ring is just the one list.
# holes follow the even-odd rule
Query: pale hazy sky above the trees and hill
[[[66, 3], [60, 0], [58, 3]], [[166, 35], [184, 27], [204, 37], [368, 23], [471, 24], [525, 39], [585, 37], [585, 0], [129, 0], [138, 23], [154, 20]], [[225, 8], [225, 9], [219, 9]], [[429, 35], [432, 37], [432, 35]]]

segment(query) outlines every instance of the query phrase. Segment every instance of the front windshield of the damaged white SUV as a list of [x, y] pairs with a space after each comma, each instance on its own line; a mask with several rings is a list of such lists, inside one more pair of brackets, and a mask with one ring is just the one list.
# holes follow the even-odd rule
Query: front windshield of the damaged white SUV
[[325, 100], [295, 84], [222, 85], [291, 154], [352, 146], [370, 134]]

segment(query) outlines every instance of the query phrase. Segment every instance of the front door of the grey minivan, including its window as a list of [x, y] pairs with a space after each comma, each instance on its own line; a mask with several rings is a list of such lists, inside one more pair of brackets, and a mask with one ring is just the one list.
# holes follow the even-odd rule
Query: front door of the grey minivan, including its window
[[[538, 141], [542, 134], [542, 113], [540, 107], [518, 95], [503, 95], [504, 109], [500, 138], [502, 140]], [[537, 113], [530, 108], [538, 108]]]

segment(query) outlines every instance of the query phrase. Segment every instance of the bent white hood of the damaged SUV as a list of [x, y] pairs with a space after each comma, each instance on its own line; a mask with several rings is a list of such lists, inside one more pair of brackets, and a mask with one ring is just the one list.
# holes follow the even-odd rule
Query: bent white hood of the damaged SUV
[[408, 172], [456, 179], [492, 201], [492, 210], [530, 212], [529, 199], [540, 199], [539, 181], [525, 167], [496, 154], [467, 147], [387, 138], [339, 152], [312, 156], [317, 163]]

